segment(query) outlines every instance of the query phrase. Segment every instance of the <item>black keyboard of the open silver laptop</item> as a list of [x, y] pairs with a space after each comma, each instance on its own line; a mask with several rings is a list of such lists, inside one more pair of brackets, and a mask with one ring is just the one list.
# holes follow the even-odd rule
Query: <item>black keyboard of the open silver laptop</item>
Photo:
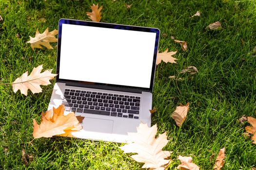
[[65, 89], [66, 111], [138, 119], [140, 97]]

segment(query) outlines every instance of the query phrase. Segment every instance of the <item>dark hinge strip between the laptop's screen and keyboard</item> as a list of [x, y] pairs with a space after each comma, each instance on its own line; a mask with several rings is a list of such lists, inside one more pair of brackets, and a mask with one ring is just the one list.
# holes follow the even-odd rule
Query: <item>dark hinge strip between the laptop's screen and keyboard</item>
[[112, 87], [112, 86], [105, 86], [105, 85], [84, 85], [84, 84], [74, 83], [74, 82], [72, 83], [66, 82], [66, 85], [86, 87], [86, 88], [97, 88], [97, 89], [104, 89], [104, 90], [123, 91], [123, 92], [131, 92], [131, 93], [142, 93], [142, 90], [137, 88]]

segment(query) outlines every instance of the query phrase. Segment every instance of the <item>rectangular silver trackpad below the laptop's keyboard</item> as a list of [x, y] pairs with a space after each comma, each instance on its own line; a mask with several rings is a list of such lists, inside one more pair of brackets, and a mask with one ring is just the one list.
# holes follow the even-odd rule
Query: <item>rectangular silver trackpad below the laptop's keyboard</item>
[[112, 134], [113, 130], [113, 120], [106, 119], [94, 119], [94, 118], [84, 118], [83, 119], [83, 129], [90, 132], [100, 132]]

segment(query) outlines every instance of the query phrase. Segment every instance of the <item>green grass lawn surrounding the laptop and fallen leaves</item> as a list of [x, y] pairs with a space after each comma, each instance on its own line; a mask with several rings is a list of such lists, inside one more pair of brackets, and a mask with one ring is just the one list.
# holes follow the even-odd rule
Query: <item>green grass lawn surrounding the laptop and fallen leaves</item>
[[[43, 64], [56, 72], [57, 43], [54, 50], [32, 50], [26, 43], [37, 29], [42, 33], [58, 29], [59, 18], [89, 20], [86, 11], [94, 0], [0, 0], [0, 83], [11, 83], [27, 70]], [[126, 9], [125, 4], [132, 4]], [[158, 133], [167, 132], [173, 151], [170, 169], [179, 164], [178, 155], [192, 156], [203, 170], [211, 170], [215, 158], [226, 148], [223, 170], [251, 170], [256, 167], [256, 146], [242, 136], [237, 121], [256, 111], [256, 3], [254, 0], [102, 0], [102, 22], [157, 27], [161, 31], [159, 51], [178, 50], [177, 64], [158, 65], [153, 93], [157, 112], [152, 124]], [[197, 10], [200, 17], [190, 18]], [[46, 22], [39, 18], [46, 18]], [[223, 29], [206, 31], [220, 21]], [[20, 34], [20, 38], [16, 37]], [[162, 34], [167, 34], [166, 37]], [[188, 42], [188, 51], [171, 39]], [[179, 74], [188, 67], [196, 75]], [[72, 67], [70, 68], [72, 69]], [[175, 75], [182, 80], [171, 80]], [[52, 81], [54, 84], [54, 81]], [[123, 154], [118, 144], [74, 138], [33, 139], [33, 119], [46, 111], [53, 85], [39, 94], [16, 94], [11, 85], [0, 85], [0, 169], [88, 169], [137, 170], [142, 164]], [[171, 118], [179, 103], [190, 102], [181, 128]], [[21, 151], [34, 156], [28, 167]]]

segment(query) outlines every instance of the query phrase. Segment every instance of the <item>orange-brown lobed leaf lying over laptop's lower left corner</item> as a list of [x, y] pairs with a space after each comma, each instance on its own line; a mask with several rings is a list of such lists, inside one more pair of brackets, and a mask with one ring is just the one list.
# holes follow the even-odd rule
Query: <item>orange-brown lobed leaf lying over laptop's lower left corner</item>
[[82, 129], [74, 112], [64, 116], [64, 105], [60, 105], [58, 108], [53, 108], [53, 111], [48, 110], [45, 113], [42, 113], [40, 124], [33, 119], [33, 126], [34, 138], [52, 137], [55, 135], [72, 136], [71, 132]]

